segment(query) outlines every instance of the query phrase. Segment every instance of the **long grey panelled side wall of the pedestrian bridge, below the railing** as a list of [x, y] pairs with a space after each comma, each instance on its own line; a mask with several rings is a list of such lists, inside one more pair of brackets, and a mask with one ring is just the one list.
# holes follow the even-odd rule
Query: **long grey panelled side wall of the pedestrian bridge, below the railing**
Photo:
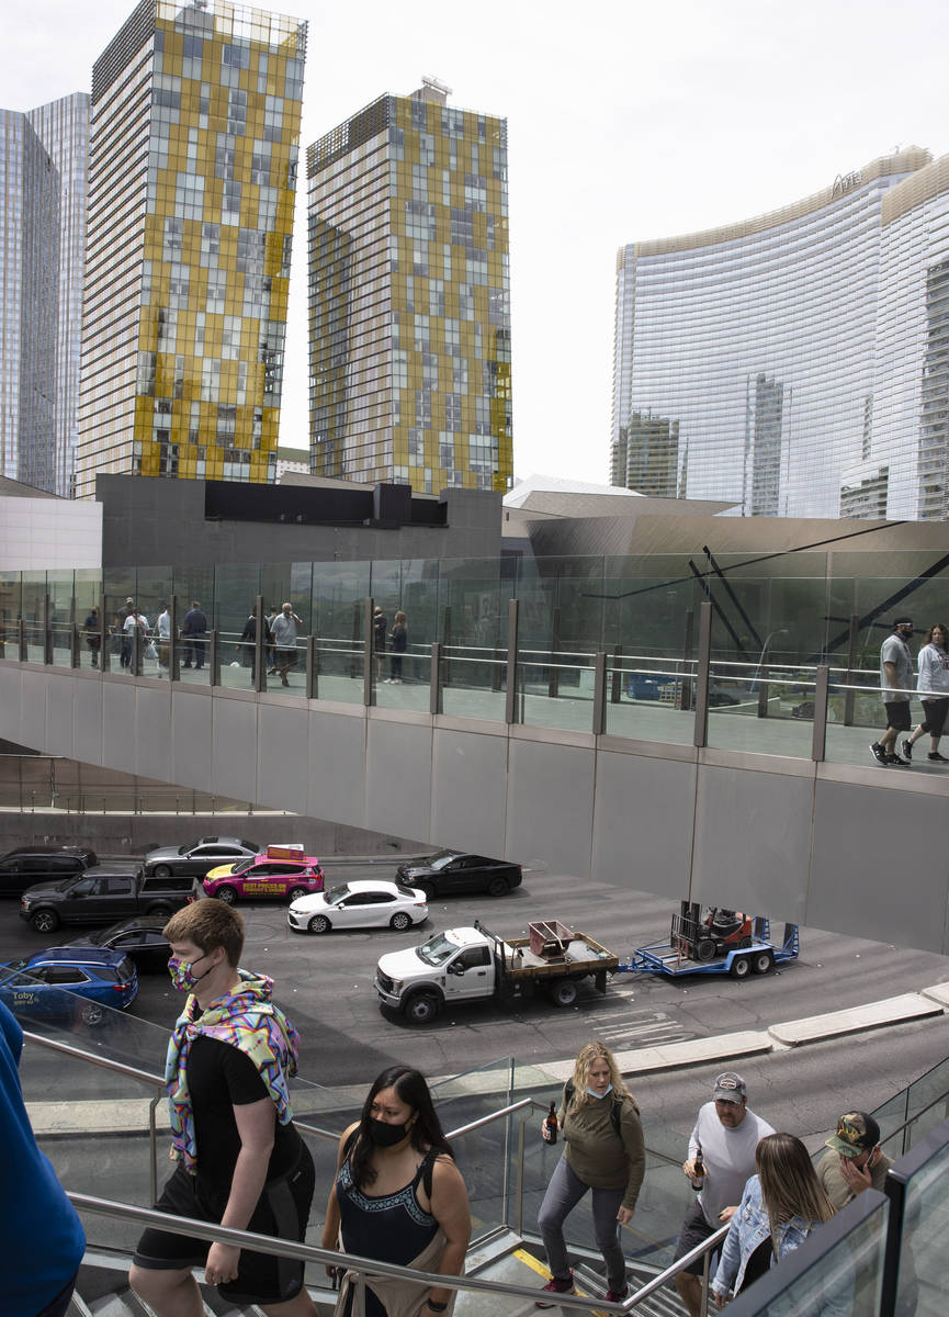
[[8, 661], [0, 736], [578, 882], [949, 952], [945, 778]]

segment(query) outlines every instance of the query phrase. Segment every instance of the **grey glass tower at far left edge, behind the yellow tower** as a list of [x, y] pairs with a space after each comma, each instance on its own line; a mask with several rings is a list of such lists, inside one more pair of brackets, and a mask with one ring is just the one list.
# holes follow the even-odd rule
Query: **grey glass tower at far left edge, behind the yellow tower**
[[88, 96], [0, 109], [0, 474], [72, 493]]

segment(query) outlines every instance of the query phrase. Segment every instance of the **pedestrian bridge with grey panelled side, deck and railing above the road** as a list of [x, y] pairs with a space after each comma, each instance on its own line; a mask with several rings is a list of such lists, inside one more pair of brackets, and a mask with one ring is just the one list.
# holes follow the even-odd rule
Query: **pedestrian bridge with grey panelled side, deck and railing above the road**
[[392, 682], [361, 639], [371, 608], [349, 636], [301, 635], [284, 686], [263, 630], [209, 632], [201, 668], [183, 641], [158, 656], [134, 637], [121, 666], [104, 606], [83, 630], [46, 595], [7, 622], [0, 736], [578, 882], [949, 950], [949, 774], [925, 753], [871, 761], [873, 672], [719, 658], [707, 603], [692, 655], [540, 651], [512, 599], [503, 644], [415, 645]]

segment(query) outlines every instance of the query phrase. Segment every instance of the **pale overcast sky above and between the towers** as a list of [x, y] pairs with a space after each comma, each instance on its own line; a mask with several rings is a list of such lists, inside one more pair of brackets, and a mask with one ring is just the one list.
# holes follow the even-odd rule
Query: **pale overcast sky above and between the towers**
[[[0, 104], [87, 91], [132, 0], [3, 7]], [[282, 7], [278, 7], [282, 8]], [[940, 0], [354, 0], [309, 22], [301, 154], [423, 74], [508, 120], [519, 475], [605, 481], [616, 249], [808, 196], [894, 146], [946, 144]], [[307, 446], [305, 170], [280, 443]]]

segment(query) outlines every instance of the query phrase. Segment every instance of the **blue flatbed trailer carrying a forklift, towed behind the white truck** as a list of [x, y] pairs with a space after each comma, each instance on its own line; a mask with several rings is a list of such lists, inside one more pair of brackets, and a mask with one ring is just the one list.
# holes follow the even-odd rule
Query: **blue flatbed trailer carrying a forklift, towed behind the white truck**
[[[684, 906], [683, 906], [684, 911]], [[771, 940], [771, 922], [757, 915], [750, 923], [750, 932], [738, 938], [734, 946], [719, 944], [708, 954], [708, 943], [688, 936], [688, 923], [683, 935], [683, 921], [687, 917], [675, 915], [669, 942], [654, 942], [637, 947], [632, 959], [621, 960], [617, 973], [665, 975], [679, 979], [684, 975], [731, 975], [732, 979], [748, 979], [749, 975], [770, 973], [775, 965], [796, 960], [800, 952], [800, 938], [796, 923], [786, 923], [781, 942]], [[696, 951], [702, 955], [696, 955]], [[691, 952], [691, 954], [690, 954]]]

